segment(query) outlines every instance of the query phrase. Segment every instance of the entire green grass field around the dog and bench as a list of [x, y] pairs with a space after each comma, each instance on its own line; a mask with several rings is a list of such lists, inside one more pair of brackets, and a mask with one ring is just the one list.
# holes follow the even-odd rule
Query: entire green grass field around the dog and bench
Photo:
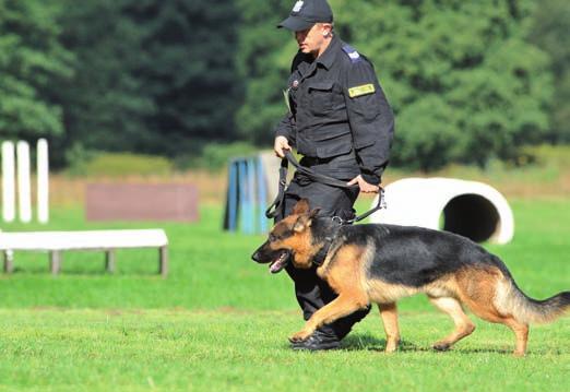
[[[535, 298], [570, 288], [569, 204], [514, 200], [514, 241], [486, 246]], [[293, 285], [249, 259], [263, 238], [222, 233], [215, 205], [201, 214], [200, 224], [142, 225], [168, 234], [167, 280], [153, 250], [119, 251], [115, 275], [104, 273], [100, 253], [66, 253], [58, 277], [46, 254], [16, 253], [15, 273], [0, 281], [0, 389], [569, 390], [569, 318], [532, 328], [523, 359], [510, 355], [510, 331], [478, 320], [452, 352], [434, 353], [452, 325], [423, 297], [401, 305], [395, 355], [381, 352], [376, 309], [343, 351], [292, 352], [286, 336], [302, 324]], [[59, 207], [48, 227], [2, 229], [103, 227], [141, 225], [86, 223], [81, 209]]]

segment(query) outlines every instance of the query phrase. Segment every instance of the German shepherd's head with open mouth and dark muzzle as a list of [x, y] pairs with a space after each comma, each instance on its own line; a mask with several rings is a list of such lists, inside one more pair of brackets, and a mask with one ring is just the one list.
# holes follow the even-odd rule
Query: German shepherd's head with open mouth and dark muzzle
[[313, 249], [311, 223], [319, 210], [309, 209], [309, 202], [301, 199], [293, 207], [293, 213], [278, 222], [269, 239], [259, 247], [251, 258], [260, 264], [270, 264], [270, 272], [276, 274], [290, 261], [297, 269], [309, 269], [311, 259], [318, 251]]

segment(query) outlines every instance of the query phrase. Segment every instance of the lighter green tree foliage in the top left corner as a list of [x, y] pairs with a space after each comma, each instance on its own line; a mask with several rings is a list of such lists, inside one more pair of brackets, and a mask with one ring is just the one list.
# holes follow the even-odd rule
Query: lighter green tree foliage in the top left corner
[[0, 132], [3, 138], [63, 135], [56, 86], [73, 75], [73, 54], [54, 23], [58, 9], [40, 0], [0, 0]]

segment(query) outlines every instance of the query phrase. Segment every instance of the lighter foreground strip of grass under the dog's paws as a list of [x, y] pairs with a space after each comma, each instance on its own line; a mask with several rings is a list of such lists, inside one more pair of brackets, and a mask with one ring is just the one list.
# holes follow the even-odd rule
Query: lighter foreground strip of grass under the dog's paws
[[[380, 321], [368, 317], [344, 351], [292, 352], [290, 311], [3, 310], [0, 388], [43, 390], [384, 390], [562, 391], [570, 325], [537, 328], [525, 359], [512, 336], [479, 322], [449, 353], [429, 344], [450, 328], [435, 312], [404, 312], [402, 351], [381, 352]], [[566, 345], [565, 345], [566, 342]]]

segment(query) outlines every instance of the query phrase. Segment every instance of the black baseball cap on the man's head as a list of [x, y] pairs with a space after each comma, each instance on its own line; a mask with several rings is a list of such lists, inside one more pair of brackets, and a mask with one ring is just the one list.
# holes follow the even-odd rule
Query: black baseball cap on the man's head
[[299, 0], [293, 7], [289, 17], [277, 25], [293, 32], [310, 28], [314, 23], [332, 23], [333, 14], [326, 0]]

